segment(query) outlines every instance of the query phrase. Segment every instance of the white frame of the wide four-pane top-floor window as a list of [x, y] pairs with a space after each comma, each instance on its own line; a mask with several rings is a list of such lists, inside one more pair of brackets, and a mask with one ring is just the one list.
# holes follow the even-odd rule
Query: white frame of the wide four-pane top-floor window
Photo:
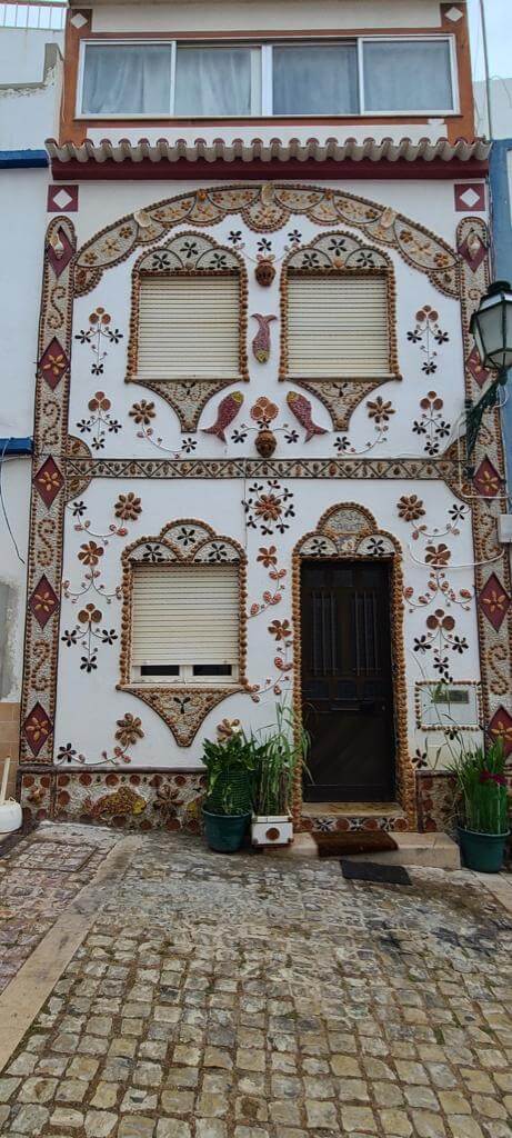
[[[418, 43], [420, 41], [421, 42], [428, 42], [428, 41], [432, 41], [432, 40], [435, 42], [439, 42], [439, 41], [447, 42], [448, 46], [449, 46], [448, 58], [449, 58], [449, 68], [451, 68], [451, 76], [449, 77], [451, 77], [452, 93], [453, 93], [453, 107], [452, 108], [432, 107], [432, 108], [429, 108], [427, 110], [421, 110], [421, 112], [419, 112], [419, 110], [393, 110], [393, 112], [391, 110], [366, 110], [365, 109], [365, 102], [364, 102], [364, 63], [363, 63], [363, 46], [364, 46], [364, 43], [369, 43], [369, 42], [379, 42], [379, 43], [382, 43], [382, 42], [388, 42], [388, 43], [389, 42], [391, 42], [391, 43], [395, 43], [395, 42], [398, 42], [398, 43], [413, 42], [413, 43]], [[357, 52], [357, 83], [358, 83], [360, 109], [357, 112], [355, 112], [354, 114], [345, 114], [345, 115], [338, 115], [338, 116], [333, 115], [332, 113], [328, 113], [325, 115], [311, 115], [311, 114], [307, 114], [307, 115], [279, 115], [279, 118], [289, 118], [290, 121], [294, 121], [294, 119], [297, 119], [297, 118], [298, 119], [300, 119], [300, 118], [303, 118], [303, 119], [309, 119], [309, 118], [332, 118], [332, 117], [339, 117], [339, 118], [348, 118], [348, 119], [353, 121], [353, 119], [356, 119], [356, 118], [357, 119], [364, 119], [364, 118], [390, 118], [390, 117], [393, 117], [393, 118], [404, 118], [404, 119], [407, 121], [410, 118], [416, 118], [416, 117], [420, 117], [420, 118], [438, 118], [438, 117], [447, 118], [447, 117], [451, 117], [453, 115], [459, 115], [461, 113], [460, 112], [460, 92], [459, 92], [457, 60], [456, 60], [456, 43], [455, 43], [454, 35], [449, 34], [449, 33], [447, 33], [446, 35], [424, 35], [424, 34], [421, 34], [421, 35], [414, 35], [414, 34], [411, 34], [411, 35], [360, 35], [360, 36], [345, 36], [345, 38], [340, 36], [340, 35], [336, 35], [336, 36], [322, 36], [320, 39], [314, 39], [314, 38], [307, 38], [306, 39], [304, 36], [294, 36], [294, 38], [288, 38], [288, 36], [284, 38], [283, 36], [282, 39], [274, 40], [273, 42], [261, 42], [261, 41], [258, 42], [258, 41], [254, 41], [254, 40], [253, 41], [251, 40], [239, 41], [239, 40], [230, 40], [230, 39], [222, 39], [222, 38], [218, 39], [218, 40], [215, 40], [213, 42], [212, 41], [205, 41], [205, 40], [171, 40], [171, 39], [147, 40], [147, 39], [144, 39], [142, 36], [140, 40], [126, 40], [126, 39], [119, 38], [119, 39], [115, 39], [115, 40], [110, 40], [110, 39], [109, 40], [106, 40], [106, 39], [101, 39], [101, 40], [100, 39], [83, 39], [81, 41], [81, 44], [80, 44], [80, 56], [79, 56], [79, 75], [77, 75], [77, 85], [76, 85], [75, 118], [77, 121], [91, 121], [91, 122], [101, 122], [102, 119], [106, 119], [106, 118], [119, 119], [119, 121], [124, 121], [126, 118], [133, 118], [133, 119], [155, 119], [155, 118], [170, 118], [170, 119], [172, 119], [172, 118], [176, 118], [176, 117], [180, 117], [180, 119], [183, 118], [183, 116], [176, 116], [176, 115], [174, 115], [174, 99], [175, 99], [175, 85], [176, 85], [176, 51], [177, 51], [177, 48], [180, 46], [190, 47], [190, 48], [199, 48], [199, 47], [204, 47], [204, 48], [240, 47], [240, 48], [242, 48], [242, 47], [245, 47], [245, 48], [253, 49], [253, 52], [254, 52], [253, 60], [251, 60], [251, 81], [253, 81], [251, 82], [251, 102], [253, 102], [251, 114], [249, 116], [246, 116], [246, 115], [216, 115], [216, 116], [210, 116], [210, 115], [192, 115], [191, 116], [192, 118], [195, 118], [195, 119], [204, 118], [205, 121], [209, 121], [212, 118], [215, 119], [215, 121], [238, 118], [241, 122], [247, 122], [248, 118], [250, 118], [250, 121], [253, 121], [255, 118], [272, 118], [272, 117], [274, 117], [274, 115], [273, 115], [273, 106], [272, 106], [272, 101], [273, 101], [272, 49], [273, 49], [273, 47], [274, 46], [275, 47], [284, 47], [287, 44], [289, 44], [291, 47], [294, 44], [302, 44], [302, 43], [309, 43], [312, 46], [313, 44], [314, 46], [322, 46], [322, 44], [344, 43], [344, 42], [354, 43], [355, 47], [356, 47], [356, 52]], [[119, 47], [119, 46], [124, 47], [124, 46], [126, 46], [127, 47], [127, 46], [135, 46], [135, 44], [137, 46], [148, 44], [148, 46], [152, 46], [152, 47], [155, 44], [158, 44], [159, 47], [168, 44], [171, 47], [171, 84], [170, 84], [170, 109], [168, 109], [168, 113], [166, 114], [164, 112], [151, 112], [149, 114], [146, 114], [146, 113], [143, 113], [143, 114], [139, 113], [138, 114], [135, 112], [124, 112], [124, 113], [114, 114], [112, 112], [106, 112], [105, 114], [93, 115], [93, 114], [83, 112], [82, 110], [82, 105], [83, 105], [83, 84], [84, 84], [84, 71], [85, 71], [85, 52], [86, 52], [88, 47], [92, 47], [92, 46], [100, 46], [100, 47], [110, 47], [110, 46], [112, 47]], [[257, 51], [259, 51], [259, 67], [256, 64], [256, 58], [257, 58], [256, 52]], [[258, 98], [258, 96], [259, 96], [259, 98]], [[259, 106], [259, 110], [255, 109], [257, 105]]]

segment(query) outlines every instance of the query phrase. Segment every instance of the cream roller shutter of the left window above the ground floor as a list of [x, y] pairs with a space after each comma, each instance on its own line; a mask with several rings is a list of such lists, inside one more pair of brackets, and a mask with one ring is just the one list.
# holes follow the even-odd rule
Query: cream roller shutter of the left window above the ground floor
[[141, 277], [138, 374], [237, 379], [238, 277]]

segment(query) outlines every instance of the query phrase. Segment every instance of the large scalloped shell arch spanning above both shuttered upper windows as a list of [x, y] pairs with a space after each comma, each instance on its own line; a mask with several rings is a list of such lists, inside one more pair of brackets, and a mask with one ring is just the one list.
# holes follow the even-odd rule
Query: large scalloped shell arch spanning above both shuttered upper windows
[[426, 273], [445, 296], [459, 297], [457, 254], [431, 230], [390, 206], [319, 185], [263, 182], [192, 190], [126, 214], [100, 230], [80, 249], [75, 294], [90, 292], [106, 269], [125, 261], [139, 246], [152, 245], [170, 230], [189, 223], [216, 225], [237, 214], [254, 232], [274, 232], [291, 215], [304, 215], [317, 225], [345, 223], [372, 242], [395, 249], [406, 264]]

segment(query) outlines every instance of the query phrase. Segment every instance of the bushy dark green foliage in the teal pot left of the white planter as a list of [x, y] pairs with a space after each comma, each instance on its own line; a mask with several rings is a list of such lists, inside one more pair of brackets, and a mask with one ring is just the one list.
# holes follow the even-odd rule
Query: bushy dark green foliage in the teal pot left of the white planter
[[255, 736], [233, 731], [214, 743], [205, 740], [203, 762], [207, 772], [205, 809], [210, 814], [249, 814], [262, 744]]

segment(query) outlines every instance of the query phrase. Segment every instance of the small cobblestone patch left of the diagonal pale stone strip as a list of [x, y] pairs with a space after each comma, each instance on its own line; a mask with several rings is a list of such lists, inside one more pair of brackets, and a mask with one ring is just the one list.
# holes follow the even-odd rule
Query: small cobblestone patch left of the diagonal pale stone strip
[[81, 831], [48, 824], [3, 856], [0, 844], [0, 992], [119, 840]]

